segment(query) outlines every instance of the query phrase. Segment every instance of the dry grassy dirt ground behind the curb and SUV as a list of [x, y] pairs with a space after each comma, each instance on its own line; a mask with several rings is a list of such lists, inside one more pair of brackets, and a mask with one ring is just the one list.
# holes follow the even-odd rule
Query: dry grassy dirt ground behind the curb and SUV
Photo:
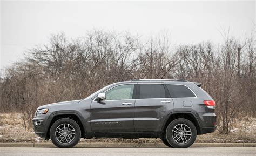
[[[27, 130], [25, 126], [27, 127]], [[39, 138], [28, 124], [24, 123], [22, 114], [0, 113], [0, 142], [45, 142]], [[157, 143], [160, 139], [81, 139], [84, 142], [143, 142]], [[197, 136], [201, 143], [256, 143], [256, 118], [239, 117], [234, 120], [229, 135], [217, 132]]]

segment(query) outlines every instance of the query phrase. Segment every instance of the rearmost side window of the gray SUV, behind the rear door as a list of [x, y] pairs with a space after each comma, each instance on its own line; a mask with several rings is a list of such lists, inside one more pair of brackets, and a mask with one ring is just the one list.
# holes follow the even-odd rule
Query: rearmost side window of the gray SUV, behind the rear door
[[172, 98], [193, 98], [194, 93], [184, 85], [166, 85]]

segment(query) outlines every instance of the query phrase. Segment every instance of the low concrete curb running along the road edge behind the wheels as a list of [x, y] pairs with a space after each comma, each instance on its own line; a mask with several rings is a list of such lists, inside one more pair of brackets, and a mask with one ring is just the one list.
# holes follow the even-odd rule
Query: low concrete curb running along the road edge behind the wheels
[[[0, 147], [55, 147], [52, 143], [0, 143]], [[76, 147], [166, 147], [163, 143], [84, 143]], [[256, 143], [194, 143], [192, 147], [256, 147]]]

